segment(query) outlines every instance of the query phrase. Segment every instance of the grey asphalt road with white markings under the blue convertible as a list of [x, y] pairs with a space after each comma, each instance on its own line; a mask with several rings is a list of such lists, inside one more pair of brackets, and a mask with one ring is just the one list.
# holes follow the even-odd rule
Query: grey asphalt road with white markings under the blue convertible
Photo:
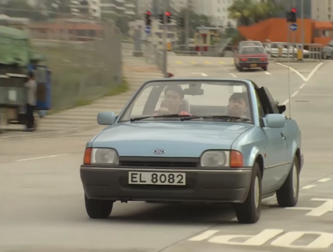
[[[234, 74], [266, 85], [281, 103], [288, 99], [284, 66], [270, 65], [269, 74], [239, 73], [232, 62], [193, 66], [183, 58], [177, 61], [183, 62], [174, 64], [177, 76]], [[290, 72], [291, 114], [301, 127], [305, 155], [300, 208], [277, 207], [272, 197], [265, 200], [257, 224], [241, 225], [226, 206], [130, 202], [116, 203], [107, 220], [91, 220], [79, 165], [98, 127], [0, 142], [0, 251], [333, 251], [333, 64], [321, 65], [309, 79], [316, 64], [300, 64], [293, 68], [304, 78]]]

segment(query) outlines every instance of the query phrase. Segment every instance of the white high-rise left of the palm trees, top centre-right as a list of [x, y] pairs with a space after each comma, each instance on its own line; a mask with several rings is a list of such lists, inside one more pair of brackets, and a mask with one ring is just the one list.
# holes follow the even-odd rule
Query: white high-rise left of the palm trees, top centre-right
[[192, 2], [194, 12], [210, 17], [213, 25], [226, 26], [229, 21], [236, 25], [234, 20], [228, 18], [228, 8], [233, 4], [233, 0], [192, 0]]

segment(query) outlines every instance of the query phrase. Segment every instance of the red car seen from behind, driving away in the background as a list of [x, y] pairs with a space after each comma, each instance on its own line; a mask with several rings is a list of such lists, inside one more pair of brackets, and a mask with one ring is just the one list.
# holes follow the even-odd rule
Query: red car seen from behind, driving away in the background
[[234, 58], [235, 66], [238, 71], [244, 68], [262, 68], [267, 71], [268, 55], [261, 46], [243, 46]]

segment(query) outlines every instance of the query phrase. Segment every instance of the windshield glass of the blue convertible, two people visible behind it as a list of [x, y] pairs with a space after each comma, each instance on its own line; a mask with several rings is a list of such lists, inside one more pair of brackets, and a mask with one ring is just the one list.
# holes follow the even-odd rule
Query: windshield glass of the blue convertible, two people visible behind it
[[181, 117], [186, 117], [186, 120], [252, 123], [246, 83], [213, 80], [150, 81], [130, 101], [120, 115], [119, 122], [138, 119], [180, 120]]

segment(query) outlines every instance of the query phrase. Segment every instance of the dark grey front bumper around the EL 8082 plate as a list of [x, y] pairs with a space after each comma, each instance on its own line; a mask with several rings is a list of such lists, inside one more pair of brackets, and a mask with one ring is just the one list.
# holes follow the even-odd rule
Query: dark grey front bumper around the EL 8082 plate
[[[186, 185], [133, 185], [129, 172], [186, 174]], [[88, 198], [120, 201], [244, 202], [252, 168], [228, 170], [140, 169], [81, 165], [80, 177]]]

